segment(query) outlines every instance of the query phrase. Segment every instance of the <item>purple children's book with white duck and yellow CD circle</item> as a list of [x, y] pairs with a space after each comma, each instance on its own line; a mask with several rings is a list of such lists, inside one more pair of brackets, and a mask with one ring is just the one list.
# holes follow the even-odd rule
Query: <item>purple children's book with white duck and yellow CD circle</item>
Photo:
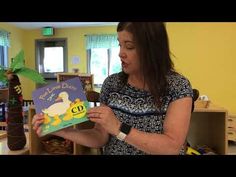
[[79, 77], [39, 88], [32, 98], [36, 113], [44, 114], [41, 136], [88, 121], [89, 103]]

